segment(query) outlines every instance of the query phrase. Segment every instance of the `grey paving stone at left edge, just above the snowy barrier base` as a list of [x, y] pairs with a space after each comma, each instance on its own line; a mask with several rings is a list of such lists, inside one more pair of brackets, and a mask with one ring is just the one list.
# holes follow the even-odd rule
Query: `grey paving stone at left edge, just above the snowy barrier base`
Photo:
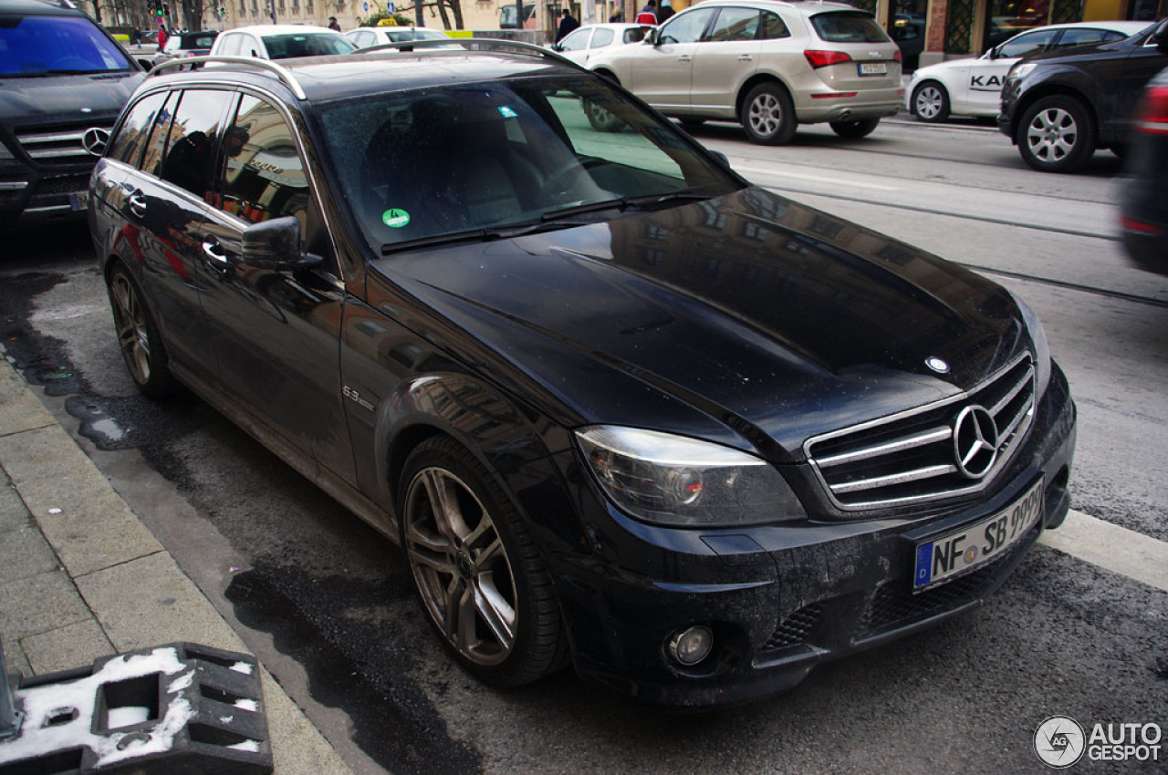
[[0, 584], [0, 633], [5, 642], [20, 641], [90, 617], [64, 571]]

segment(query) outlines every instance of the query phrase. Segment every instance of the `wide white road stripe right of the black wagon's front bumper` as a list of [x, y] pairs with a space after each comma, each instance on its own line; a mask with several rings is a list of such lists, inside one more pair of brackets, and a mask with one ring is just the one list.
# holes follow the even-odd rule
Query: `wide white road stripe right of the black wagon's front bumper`
[[1168, 543], [1075, 511], [1038, 543], [1168, 592]]

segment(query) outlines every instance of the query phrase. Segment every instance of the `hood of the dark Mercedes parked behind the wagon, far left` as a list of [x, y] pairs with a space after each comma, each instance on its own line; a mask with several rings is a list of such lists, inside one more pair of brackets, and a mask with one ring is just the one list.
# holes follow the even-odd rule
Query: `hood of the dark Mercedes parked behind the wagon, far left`
[[95, 75], [0, 77], [0, 125], [21, 126], [116, 118], [146, 75], [139, 70]]

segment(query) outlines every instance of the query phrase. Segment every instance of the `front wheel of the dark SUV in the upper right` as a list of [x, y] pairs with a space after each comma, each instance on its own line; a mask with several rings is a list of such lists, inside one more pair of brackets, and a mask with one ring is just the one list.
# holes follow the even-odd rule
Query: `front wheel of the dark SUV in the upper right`
[[1016, 139], [1022, 160], [1034, 169], [1070, 173], [1094, 153], [1094, 120], [1073, 97], [1043, 97], [1022, 117]]

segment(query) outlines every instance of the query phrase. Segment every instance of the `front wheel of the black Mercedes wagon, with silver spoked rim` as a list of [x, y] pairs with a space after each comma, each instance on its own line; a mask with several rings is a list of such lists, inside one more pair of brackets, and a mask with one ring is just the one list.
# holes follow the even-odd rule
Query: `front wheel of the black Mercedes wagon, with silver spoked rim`
[[495, 686], [537, 680], [566, 661], [551, 579], [486, 467], [445, 437], [405, 462], [402, 546], [422, 607], [454, 657]]

